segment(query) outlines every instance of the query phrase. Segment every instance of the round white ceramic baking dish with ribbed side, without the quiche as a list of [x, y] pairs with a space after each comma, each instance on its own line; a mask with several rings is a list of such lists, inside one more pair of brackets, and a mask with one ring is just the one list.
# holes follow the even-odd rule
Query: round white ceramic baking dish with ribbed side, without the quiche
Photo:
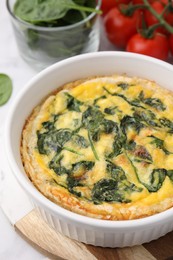
[[99, 220], [70, 212], [45, 198], [29, 181], [20, 158], [20, 139], [26, 118], [52, 90], [73, 80], [115, 73], [154, 80], [173, 90], [173, 66], [166, 62], [125, 52], [76, 56], [45, 69], [23, 87], [11, 107], [5, 137], [12, 172], [49, 225], [68, 237], [103, 247], [133, 246], [163, 236], [173, 230], [173, 208], [128, 221]]

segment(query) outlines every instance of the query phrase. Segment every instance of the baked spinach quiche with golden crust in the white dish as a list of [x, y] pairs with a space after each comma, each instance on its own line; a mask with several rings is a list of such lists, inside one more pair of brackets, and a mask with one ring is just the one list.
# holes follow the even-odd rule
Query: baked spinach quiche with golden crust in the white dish
[[21, 157], [56, 204], [129, 220], [173, 206], [173, 94], [126, 75], [69, 83], [27, 119]]

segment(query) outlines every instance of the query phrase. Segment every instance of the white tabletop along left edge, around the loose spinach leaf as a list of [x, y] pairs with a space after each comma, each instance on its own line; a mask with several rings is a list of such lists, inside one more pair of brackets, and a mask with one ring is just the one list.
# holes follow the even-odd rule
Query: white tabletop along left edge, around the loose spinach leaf
[[[7, 73], [13, 80], [13, 94], [8, 104], [0, 107], [0, 138], [2, 138], [5, 119], [8, 116], [8, 108], [15, 95], [23, 85], [36, 74], [20, 57], [15, 44], [10, 20], [5, 8], [5, 0], [0, 1], [0, 73]], [[0, 145], [2, 148], [2, 144]], [[2, 165], [2, 157], [0, 163]], [[3, 183], [5, 172], [0, 171], [0, 205], [4, 201]], [[10, 192], [9, 192], [10, 194]], [[16, 194], [17, 195], [17, 194]], [[20, 205], [19, 205], [20, 207]], [[12, 214], [13, 212], [11, 212]], [[9, 209], [10, 214], [10, 209]], [[0, 259], [1, 260], [39, 260], [45, 259], [29, 244], [27, 244], [10, 225], [0, 208]]]

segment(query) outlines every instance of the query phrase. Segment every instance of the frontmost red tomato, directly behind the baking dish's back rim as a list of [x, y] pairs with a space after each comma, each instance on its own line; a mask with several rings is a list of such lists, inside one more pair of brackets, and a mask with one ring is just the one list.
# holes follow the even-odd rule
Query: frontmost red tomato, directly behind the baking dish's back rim
[[147, 39], [137, 33], [128, 41], [126, 51], [166, 60], [169, 53], [169, 42], [163, 34], [155, 33], [153, 38]]

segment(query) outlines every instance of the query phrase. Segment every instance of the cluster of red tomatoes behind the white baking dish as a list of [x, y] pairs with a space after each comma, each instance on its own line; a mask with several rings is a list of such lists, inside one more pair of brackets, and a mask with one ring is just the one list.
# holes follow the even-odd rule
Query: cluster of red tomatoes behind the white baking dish
[[[155, 13], [163, 16], [163, 19], [173, 26], [173, 7], [166, 11], [165, 7], [169, 0], [149, 0], [149, 4]], [[101, 9], [108, 39], [111, 43], [129, 52], [145, 54], [158, 59], [167, 60], [169, 51], [173, 55], [173, 34], [159, 24], [158, 19], [147, 9], [143, 8], [143, 0], [102, 0]], [[134, 7], [130, 15], [122, 12], [124, 7]], [[162, 13], [163, 12], [163, 13]], [[156, 27], [152, 35], [146, 36], [143, 32], [145, 27]]]

